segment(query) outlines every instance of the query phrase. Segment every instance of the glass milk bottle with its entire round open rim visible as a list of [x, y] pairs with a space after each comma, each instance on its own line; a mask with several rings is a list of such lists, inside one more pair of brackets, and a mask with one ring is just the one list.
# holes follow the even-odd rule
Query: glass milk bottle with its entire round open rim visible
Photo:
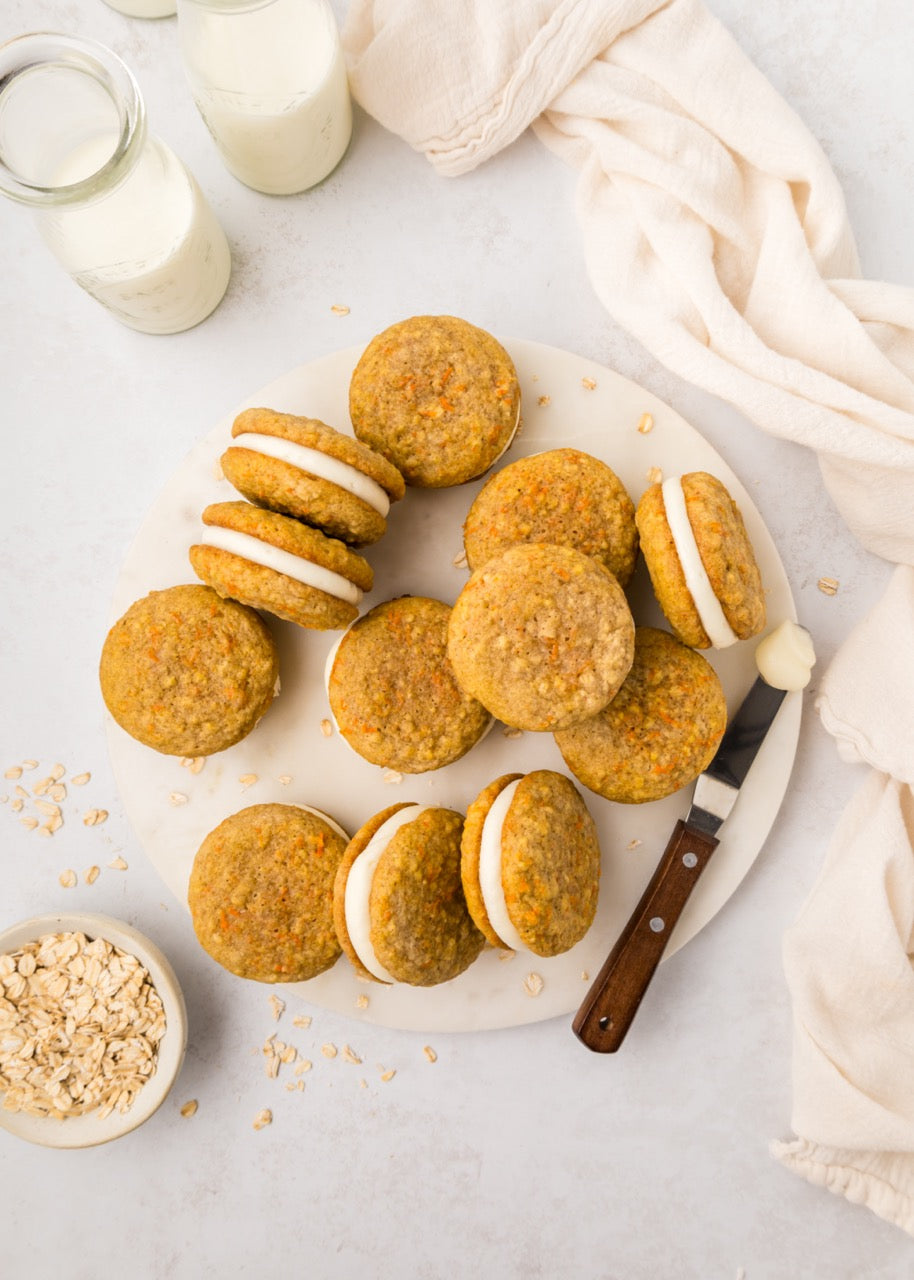
[[33, 211], [77, 284], [132, 329], [189, 329], [225, 293], [221, 227], [147, 132], [131, 72], [95, 41], [42, 32], [0, 45], [0, 192]]

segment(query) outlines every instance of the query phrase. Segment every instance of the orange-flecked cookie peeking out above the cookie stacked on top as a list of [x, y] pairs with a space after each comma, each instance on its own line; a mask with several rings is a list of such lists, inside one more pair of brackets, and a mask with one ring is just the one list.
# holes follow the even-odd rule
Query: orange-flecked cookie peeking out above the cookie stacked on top
[[515, 543], [575, 547], [625, 586], [637, 557], [635, 504], [616, 472], [580, 449], [517, 458], [485, 481], [463, 522], [470, 568]]

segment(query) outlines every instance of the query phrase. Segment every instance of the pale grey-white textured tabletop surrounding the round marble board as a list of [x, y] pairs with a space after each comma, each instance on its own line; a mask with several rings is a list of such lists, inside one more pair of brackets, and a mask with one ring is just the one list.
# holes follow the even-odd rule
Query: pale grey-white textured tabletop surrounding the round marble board
[[[865, 273], [914, 284], [909, 0], [712, 8], [831, 157]], [[588, 1053], [565, 1019], [438, 1034], [434, 1065], [426, 1037], [360, 1025], [355, 1010], [307, 1010], [311, 1029], [296, 1032], [297, 1009], [277, 1027], [264, 988], [200, 951], [119, 806], [95, 668], [148, 503], [212, 422], [284, 370], [421, 311], [612, 365], [695, 422], [751, 486], [823, 666], [886, 566], [846, 535], [809, 456], [671, 378], [608, 323], [580, 261], [573, 175], [534, 138], [442, 179], [358, 114], [338, 172], [273, 200], [221, 168], [174, 19], [127, 19], [101, 0], [5, 0], [0, 38], [42, 28], [91, 35], [129, 63], [152, 128], [225, 227], [234, 275], [198, 329], [143, 337], [65, 279], [22, 209], [0, 209], [0, 767], [32, 756], [45, 772], [92, 772], [52, 840], [0, 808], [0, 925], [55, 909], [120, 915], [170, 955], [191, 1015], [182, 1078], [133, 1135], [58, 1153], [0, 1133], [0, 1277], [906, 1280], [908, 1236], [767, 1152], [790, 1117], [781, 936], [858, 782], [812, 713], [766, 850], [661, 970], [616, 1057]], [[822, 575], [840, 580], [836, 596], [817, 590]], [[88, 804], [110, 810], [104, 827], [82, 826], [77, 805]], [[118, 852], [127, 872], [105, 865]], [[93, 886], [60, 888], [64, 867], [91, 863], [102, 867]], [[315, 1061], [303, 1094], [264, 1076], [273, 1030]], [[326, 1061], [325, 1041], [351, 1043], [364, 1066]], [[381, 1083], [381, 1068], [396, 1076]], [[200, 1110], [182, 1119], [192, 1097]], [[265, 1106], [274, 1124], [255, 1133]]]

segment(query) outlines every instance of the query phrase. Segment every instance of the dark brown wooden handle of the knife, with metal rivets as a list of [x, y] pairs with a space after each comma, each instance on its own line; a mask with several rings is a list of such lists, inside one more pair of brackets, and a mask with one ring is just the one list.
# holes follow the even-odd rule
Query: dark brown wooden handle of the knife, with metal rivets
[[575, 1036], [597, 1053], [614, 1053], [625, 1039], [673, 925], [717, 849], [718, 840], [680, 819], [663, 856], [597, 974], [571, 1024]]

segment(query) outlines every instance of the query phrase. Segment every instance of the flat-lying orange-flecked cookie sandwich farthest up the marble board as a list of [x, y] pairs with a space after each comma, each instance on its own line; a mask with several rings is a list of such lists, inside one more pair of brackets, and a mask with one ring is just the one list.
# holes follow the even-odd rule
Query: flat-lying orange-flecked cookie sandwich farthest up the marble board
[[378, 334], [349, 384], [352, 429], [407, 484], [474, 480], [511, 444], [520, 416], [513, 362], [456, 316], [412, 316]]

